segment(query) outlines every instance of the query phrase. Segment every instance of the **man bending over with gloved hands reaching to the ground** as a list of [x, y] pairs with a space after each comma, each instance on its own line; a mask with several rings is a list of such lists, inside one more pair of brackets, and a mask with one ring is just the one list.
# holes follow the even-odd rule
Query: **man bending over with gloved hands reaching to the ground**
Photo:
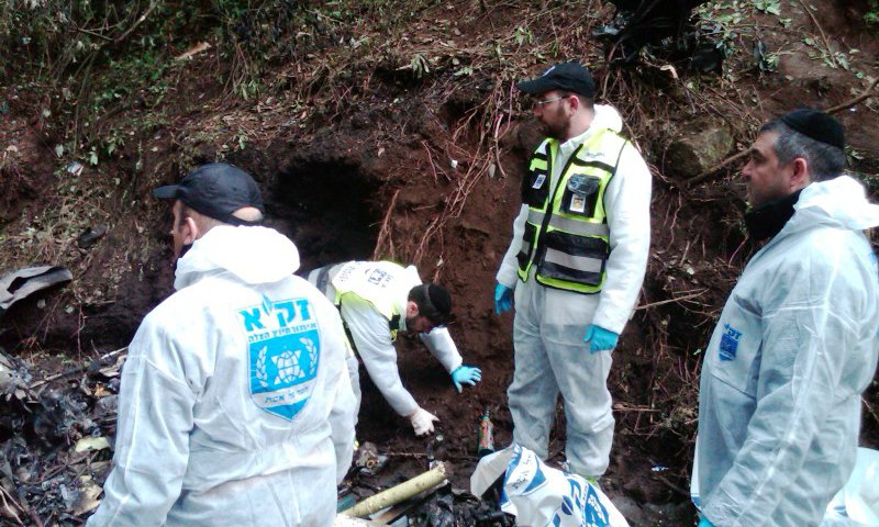
[[[393, 410], [412, 423], [415, 435], [433, 431], [435, 415], [419, 406], [403, 388], [393, 341], [397, 332], [416, 332], [427, 349], [452, 375], [460, 393], [463, 384], [482, 378], [478, 368], [463, 365], [458, 348], [444, 326], [452, 313], [448, 292], [436, 283], [421, 283], [415, 266], [390, 261], [348, 261], [309, 273], [309, 281], [338, 307], [352, 348], [364, 360], [369, 378]], [[357, 358], [348, 357], [348, 372], [357, 395], [360, 390]]]

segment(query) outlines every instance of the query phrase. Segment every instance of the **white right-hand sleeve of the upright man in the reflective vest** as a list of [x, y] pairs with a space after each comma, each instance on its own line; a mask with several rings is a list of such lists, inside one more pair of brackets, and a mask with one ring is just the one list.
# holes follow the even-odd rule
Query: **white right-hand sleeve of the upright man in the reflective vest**
[[604, 191], [611, 254], [592, 324], [620, 334], [628, 321], [647, 270], [650, 250], [650, 171], [632, 144]]

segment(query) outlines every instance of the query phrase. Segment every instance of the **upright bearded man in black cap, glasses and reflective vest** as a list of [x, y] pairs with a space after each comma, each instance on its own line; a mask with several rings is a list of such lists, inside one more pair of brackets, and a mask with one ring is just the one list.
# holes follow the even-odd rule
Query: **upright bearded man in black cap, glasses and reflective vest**
[[528, 162], [494, 290], [498, 313], [515, 291], [513, 441], [546, 459], [560, 392], [567, 463], [594, 481], [613, 442], [611, 351], [647, 266], [650, 172], [620, 135], [616, 110], [593, 103], [596, 85], [579, 64], [516, 88], [534, 97], [547, 137]]

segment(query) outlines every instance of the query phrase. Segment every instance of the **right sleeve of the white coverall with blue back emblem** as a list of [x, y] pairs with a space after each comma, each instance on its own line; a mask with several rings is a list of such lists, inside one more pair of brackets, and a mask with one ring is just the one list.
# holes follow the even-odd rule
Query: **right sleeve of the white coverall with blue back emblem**
[[354, 457], [357, 401], [351, 385], [347, 360], [345, 360], [349, 351], [348, 340], [345, 338], [345, 329], [342, 327], [342, 318], [338, 316], [338, 310], [334, 306], [330, 307], [327, 313], [333, 318], [327, 332], [327, 341], [331, 346], [337, 348], [338, 352], [335, 355], [342, 358], [338, 378], [331, 382], [335, 390], [333, 391], [333, 406], [330, 411], [330, 429], [333, 438], [333, 448], [336, 452], [336, 484], [338, 484], [348, 473]]

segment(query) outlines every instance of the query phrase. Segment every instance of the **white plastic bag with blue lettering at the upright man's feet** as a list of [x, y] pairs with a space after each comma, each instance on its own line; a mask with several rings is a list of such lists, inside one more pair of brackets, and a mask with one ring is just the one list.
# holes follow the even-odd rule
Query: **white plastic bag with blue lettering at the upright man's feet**
[[501, 474], [501, 511], [515, 516], [518, 526], [628, 527], [601, 489], [547, 467], [520, 445], [482, 458], [470, 476], [470, 492], [481, 496]]

